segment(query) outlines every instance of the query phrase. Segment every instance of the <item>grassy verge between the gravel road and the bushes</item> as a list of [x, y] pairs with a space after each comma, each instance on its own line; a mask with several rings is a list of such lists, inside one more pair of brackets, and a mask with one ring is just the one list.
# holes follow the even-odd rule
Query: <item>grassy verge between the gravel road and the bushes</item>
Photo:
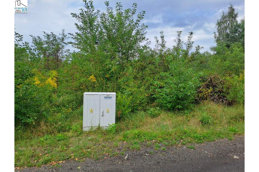
[[[71, 158], [77, 158], [77, 161], [83, 158], [98, 160], [124, 155], [126, 150], [138, 151], [143, 146], [166, 150], [166, 146], [202, 143], [219, 138], [233, 139], [233, 135], [245, 132], [244, 108], [239, 106], [204, 102], [188, 113], [157, 109], [156, 112], [159, 112], [156, 117], [146, 111], [129, 113], [116, 122], [116, 133], [101, 128], [83, 132], [82, 108], [56, 121], [51, 119], [17, 127], [14, 165], [41, 166]], [[163, 147], [159, 144], [163, 144]], [[124, 149], [118, 153], [120, 147]]]

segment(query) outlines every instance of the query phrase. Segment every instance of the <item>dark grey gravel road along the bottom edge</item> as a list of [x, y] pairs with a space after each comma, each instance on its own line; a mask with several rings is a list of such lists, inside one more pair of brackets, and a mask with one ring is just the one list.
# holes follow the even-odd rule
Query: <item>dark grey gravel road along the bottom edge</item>
[[[121, 143], [117, 151], [122, 151], [124, 145]], [[50, 168], [51, 165], [43, 165], [40, 168], [23, 168], [15, 170], [15, 172], [245, 171], [244, 135], [234, 136], [233, 140], [225, 138], [191, 145], [195, 149], [191, 150], [185, 146], [162, 145], [158, 151], [154, 149], [154, 145], [149, 147], [141, 145], [140, 150], [126, 150], [124, 155], [119, 153], [117, 157], [107, 155], [107, 158], [101, 160], [85, 159], [83, 162], [68, 160], [59, 164], [62, 167]], [[162, 150], [162, 147], [166, 150]], [[153, 151], [154, 154], [150, 154], [150, 151]]]

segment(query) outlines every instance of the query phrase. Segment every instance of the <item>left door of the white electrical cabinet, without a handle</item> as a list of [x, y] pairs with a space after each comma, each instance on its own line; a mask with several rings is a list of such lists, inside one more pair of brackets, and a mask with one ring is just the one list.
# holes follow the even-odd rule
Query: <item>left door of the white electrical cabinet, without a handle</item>
[[88, 131], [91, 127], [100, 124], [100, 95], [84, 95], [83, 105], [83, 130]]

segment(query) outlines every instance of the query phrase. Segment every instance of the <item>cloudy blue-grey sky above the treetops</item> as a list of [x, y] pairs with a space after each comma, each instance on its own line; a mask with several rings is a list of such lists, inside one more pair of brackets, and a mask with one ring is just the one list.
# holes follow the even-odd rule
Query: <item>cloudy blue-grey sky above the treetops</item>
[[[21, 0], [22, 2], [23, 0]], [[105, 1], [94, 0], [95, 9], [105, 10]], [[177, 31], [182, 31], [182, 41], [187, 40], [189, 32], [194, 32], [194, 47], [203, 46], [204, 51], [210, 51], [215, 46], [213, 32], [216, 31], [215, 23], [220, 19], [222, 10], [227, 12], [230, 1], [225, 0], [111, 0], [110, 7], [115, 9], [116, 2], [121, 2], [123, 9], [132, 8], [137, 3], [137, 13], [146, 11], [141, 21], [148, 25], [146, 38], [151, 41], [150, 47], [155, 46], [155, 36], [160, 37], [164, 32], [167, 48], [175, 45]], [[231, 3], [239, 13], [238, 20], [245, 16], [245, 1], [232, 0]], [[65, 34], [77, 32], [74, 25], [77, 21], [71, 13], [79, 13], [84, 8], [82, 0], [28, 0], [28, 13], [15, 13], [15, 31], [22, 34], [24, 41], [32, 43], [29, 35], [43, 37], [43, 31], [60, 34], [65, 29]], [[77, 22], [78, 23], [78, 22]], [[67, 46], [71, 51], [76, 50]], [[194, 50], [194, 48], [193, 48]], [[77, 51], [77, 50], [76, 50]]]

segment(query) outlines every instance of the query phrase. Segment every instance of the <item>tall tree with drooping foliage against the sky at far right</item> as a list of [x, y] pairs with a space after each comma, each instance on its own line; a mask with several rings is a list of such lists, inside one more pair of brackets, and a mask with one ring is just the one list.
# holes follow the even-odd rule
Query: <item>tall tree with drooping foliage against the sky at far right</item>
[[222, 11], [221, 18], [217, 20], [214, 32], [215, 42], [219, 45], [225, 43], [227, 47], [235, 42], [242, 43], [245, 48], [245, 18], [240, 23], [237, 21], [238, 12], [233, 4], [228, 7], [227, 13]]

